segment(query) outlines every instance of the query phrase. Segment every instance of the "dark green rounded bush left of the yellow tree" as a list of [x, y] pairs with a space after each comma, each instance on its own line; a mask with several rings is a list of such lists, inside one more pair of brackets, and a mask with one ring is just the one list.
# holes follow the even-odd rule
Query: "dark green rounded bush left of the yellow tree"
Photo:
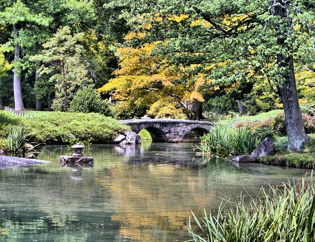
[[70, 103], [69, 112], [77, 113], [99, 113], [107, 117], [114, 115], [113, 108], [106, 100], [92, 88], [79, 90]]

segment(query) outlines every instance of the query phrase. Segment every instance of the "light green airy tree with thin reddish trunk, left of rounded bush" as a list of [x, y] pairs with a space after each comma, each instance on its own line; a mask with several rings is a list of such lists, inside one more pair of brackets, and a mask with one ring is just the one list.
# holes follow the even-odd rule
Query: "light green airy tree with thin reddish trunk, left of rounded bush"
[[67, 112], [68, 100], [79, 88], [92, 83], [84, 66], [86, 60], [82, 58], [84, 48], [80, 42], [83, 37], [84, 33], [71, 34], [68, 27], [63, 27], [43, 44], [42, 54], [30, 58], [44, 63], [39, 73], [52, 75], [49, 81], [55, 83], [54, 110]]

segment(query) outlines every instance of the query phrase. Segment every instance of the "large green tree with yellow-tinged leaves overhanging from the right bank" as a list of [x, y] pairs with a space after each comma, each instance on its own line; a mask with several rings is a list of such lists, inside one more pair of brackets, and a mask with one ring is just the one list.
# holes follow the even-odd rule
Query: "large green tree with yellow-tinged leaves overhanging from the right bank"
[[303, 147], [307, 135], [293, 58], [299, 58], [298, 50], [314, 35], [312, 3], [128, 0], [119, 4], [132, 6], [131, 16], [124, 14], [137, 32], [147, 33], [144, 42], [167, 40], [167, 46], [160, 45], [156, 52], [167, 55], [173, 63], [197, 64], [209, 80], [204, 90], [214, 85], [270, 80], [284, 105], [288, 150]]

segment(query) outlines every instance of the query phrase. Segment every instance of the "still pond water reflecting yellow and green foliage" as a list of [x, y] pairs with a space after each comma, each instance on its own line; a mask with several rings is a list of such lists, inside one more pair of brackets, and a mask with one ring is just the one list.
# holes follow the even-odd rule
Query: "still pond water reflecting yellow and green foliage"
[[193, 211], [216, 212], [222, 199], [256, 196], [261, 186], [298, 180], [309, 170], [236, 164], [196, 156], [191, 143], [93, 145], [93, 166], [51, 161], [0, 170], [0, 241], [183, 242]]

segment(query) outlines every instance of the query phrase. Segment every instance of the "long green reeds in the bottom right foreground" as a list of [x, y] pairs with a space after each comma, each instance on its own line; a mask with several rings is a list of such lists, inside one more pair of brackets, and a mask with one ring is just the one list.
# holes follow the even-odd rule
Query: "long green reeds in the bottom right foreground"
[[[270, 194], [270, 195], [269, 195]], [[249, 205], [242, 200], [235, 209], [199, 220], [194, 214], [197, 231], [189, 219], [188, 230], [194, 242], [314, 242], [315, 241], [315, 187], [302, 182], [261, 188], [261, 197]]]

